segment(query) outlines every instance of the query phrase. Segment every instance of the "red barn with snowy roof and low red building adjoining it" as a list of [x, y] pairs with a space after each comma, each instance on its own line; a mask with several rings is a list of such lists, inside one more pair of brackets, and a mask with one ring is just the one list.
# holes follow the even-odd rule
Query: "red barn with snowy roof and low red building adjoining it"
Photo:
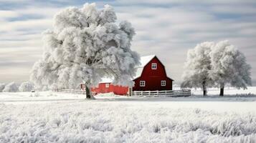
[[[138, 66], [134, 87], [121, 87], [111, 84], [111, 79], [103, 79], [98, 87], [93, 87], [92, 92], [126, 95], [129, 90], [133, 91], [153, 91], [153, 90], [172, 90], [173, 79], [166, 74], [166, 69], [156, 55], [142, 56], [141, 65]], [[82, 86], [83, 87], [83, 86]]]

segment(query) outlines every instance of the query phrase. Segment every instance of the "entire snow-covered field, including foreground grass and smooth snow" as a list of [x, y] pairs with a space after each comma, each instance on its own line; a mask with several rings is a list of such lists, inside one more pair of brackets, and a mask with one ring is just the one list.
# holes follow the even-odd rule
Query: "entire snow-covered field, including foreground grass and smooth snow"
[[0, 142], [256, 142], [255, 89], [226, 90], [221, 98], [196, 90], [191, 97], [105, 94], [91, 101], [78, 94], [2, 92]]

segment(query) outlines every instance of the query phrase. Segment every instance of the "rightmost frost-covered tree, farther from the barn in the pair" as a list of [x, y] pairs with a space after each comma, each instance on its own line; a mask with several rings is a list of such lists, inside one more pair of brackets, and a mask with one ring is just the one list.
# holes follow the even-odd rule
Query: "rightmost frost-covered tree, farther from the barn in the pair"
[[219, 41], [210, 53], [212, 71], [210, 77], [220, 87], [220, 96], [224, 95], [224, 86], [230, 84], [238, 89], [251, 85], [250, 65], [242, 54], [229, 41]]

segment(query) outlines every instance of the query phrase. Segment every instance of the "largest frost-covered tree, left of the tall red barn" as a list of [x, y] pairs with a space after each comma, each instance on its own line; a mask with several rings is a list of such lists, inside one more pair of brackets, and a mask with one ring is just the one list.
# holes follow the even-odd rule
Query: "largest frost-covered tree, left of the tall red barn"
[[77, 88], [85, 83], [87, 98], [93, 98], [90, 87], [102, 77], [133, 85], [131, 77], [139, 64], [138, 54], [131, 51], [135, 31], [128, 21], [117, 24], [116, 19], [109, 5], [98, 10], [95, 4], [85, 4], [57, 13], [53, 30], [44, 32], [44, 54], [33, 66], [31, 81], [49, 88], [54, 84]]

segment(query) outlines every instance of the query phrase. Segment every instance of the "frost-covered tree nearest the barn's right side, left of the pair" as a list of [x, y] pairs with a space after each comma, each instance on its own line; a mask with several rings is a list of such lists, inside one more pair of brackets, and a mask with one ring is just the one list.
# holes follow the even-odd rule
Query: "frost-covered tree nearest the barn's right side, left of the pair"
[[188, 51], [181, 88], [199, 87], [204, 91], [204, 96], [207, 95], [207, 87], [213, 84], [209, 78], [209, 71], [212, 69], [209, 53], [213, 46], [213, 42], [203, 42]]

